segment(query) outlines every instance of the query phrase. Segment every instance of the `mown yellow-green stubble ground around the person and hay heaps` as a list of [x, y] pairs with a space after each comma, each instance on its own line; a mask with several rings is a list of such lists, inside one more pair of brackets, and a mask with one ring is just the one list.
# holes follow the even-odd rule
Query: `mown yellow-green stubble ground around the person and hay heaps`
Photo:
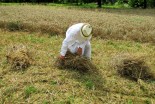
[[[111, 68], [112, 64], [109, 65], [118, 53], [123, 55], [121, 52], [124, 52], [131, 56], [146, 56], [148, 67], [154, 69], [155, 47], [152, 44], [93, 38], [92, 63], [97, 70], [79, 73], [54, 66], [62, 37], [0, 30], [0, 38], [1, 103], [155, 102], [154, 80], [135, 82], [119, 76], [117, 70]], [[10, 71], [5, 57], [6, 46], [18, 43], [26, 44], [35, 53], [32, 54], [35, 64], [25, 71]]]

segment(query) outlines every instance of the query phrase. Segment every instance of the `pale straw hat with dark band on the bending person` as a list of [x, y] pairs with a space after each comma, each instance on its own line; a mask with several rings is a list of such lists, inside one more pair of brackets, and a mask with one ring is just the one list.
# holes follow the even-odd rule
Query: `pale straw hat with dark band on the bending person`
[[83, 38], [90, 38], [92, 36], [92, 26], [90, 24], [84, 24], [81, 28], [81, 36]]

